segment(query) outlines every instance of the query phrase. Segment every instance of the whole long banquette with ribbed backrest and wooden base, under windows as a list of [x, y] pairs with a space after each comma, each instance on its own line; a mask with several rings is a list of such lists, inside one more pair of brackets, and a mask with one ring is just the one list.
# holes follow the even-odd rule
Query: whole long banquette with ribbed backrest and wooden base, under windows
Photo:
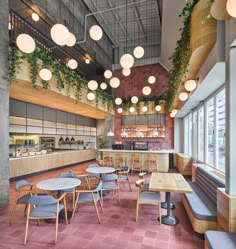
[[217, 188], [225, 184], [208, 170], [197, 167], [195, 182], [190, 182], [192, 194], [182, 194], [181, 199], [195, 232], [204, 234], [216, 230]]

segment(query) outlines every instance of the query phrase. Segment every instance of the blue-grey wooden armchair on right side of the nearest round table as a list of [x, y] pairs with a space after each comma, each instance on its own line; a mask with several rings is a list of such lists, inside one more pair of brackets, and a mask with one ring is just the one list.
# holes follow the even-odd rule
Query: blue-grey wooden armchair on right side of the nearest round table
[[96, 188], [91, 190], [76, 190], [76, 200], [75, 200], [75, 205], [74, 205], [74, 209], [73, 209], [73, 214], [71, 217], [71, 221], [74, 217], [75, 214], [75, 210], [76, 210], [76, 206], [78, 205], [82, 205], [82, 204], [93, 204], [96, 210], [96, 214], [98, 217], [98, 221], [99, 223], [101, 223], [100, 220], [100, 216], [99, 216], [99, 212], [98, 212], [98, 208], [97, 208], [97, 203], [100, 203], [101, 209], [102, 209], [102, 202], [101, 202], [101, 191], [102, 189], [102, 181], [99, 181], [99, 183], [97, 184]]

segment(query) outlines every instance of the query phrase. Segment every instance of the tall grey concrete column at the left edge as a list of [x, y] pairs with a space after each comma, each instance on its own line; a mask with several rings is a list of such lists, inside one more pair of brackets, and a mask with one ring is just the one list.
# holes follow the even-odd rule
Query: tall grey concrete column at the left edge
[[0, 1], [0, 205], [9, 202], [9, 0]]

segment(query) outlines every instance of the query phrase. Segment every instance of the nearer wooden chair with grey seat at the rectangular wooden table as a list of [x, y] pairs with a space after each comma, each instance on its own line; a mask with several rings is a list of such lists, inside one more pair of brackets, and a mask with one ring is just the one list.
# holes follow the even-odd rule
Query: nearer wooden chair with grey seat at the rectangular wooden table
[[138, 188], [138, 197], [137, 197], [137, 205], [136, 205], [136, 221], [138, 221], [138, 215], [141, 204], [149, 204], [155, 205], [159, 207], [159, 216], [160, 216], [160, 224], [161, 224], [161, 194], [159, 192], [143, 192], [144, 180], [137, 180], [136, 187]]

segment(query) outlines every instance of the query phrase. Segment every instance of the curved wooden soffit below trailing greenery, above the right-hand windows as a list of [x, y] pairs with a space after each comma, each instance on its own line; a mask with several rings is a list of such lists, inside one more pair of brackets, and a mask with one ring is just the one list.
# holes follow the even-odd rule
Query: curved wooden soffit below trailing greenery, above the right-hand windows
[[[216, 43], [216, 20], [214, 18], [207, 19], [209, 12], [210, 6], [207, 6], [205, 0], [200, 0], [192, 12], [190, 25], [191, 55], [188, 71], [183, 81], [196, 78], [198, 71]], [[173, 108], [181, 109], [184, 104], [184, 102], [178, 99], [178, 95], [182, 91], [186, 90], [180, 82]]]

